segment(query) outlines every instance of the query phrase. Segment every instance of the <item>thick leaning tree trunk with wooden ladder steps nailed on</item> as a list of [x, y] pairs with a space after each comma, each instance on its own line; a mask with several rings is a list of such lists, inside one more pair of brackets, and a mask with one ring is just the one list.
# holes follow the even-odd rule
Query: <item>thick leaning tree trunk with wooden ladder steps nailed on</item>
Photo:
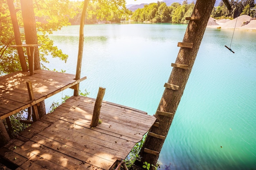
[[[215, 0], [209, 0], [207, 2], [205, 0], [196, 1], [192, 16], [200, 16], [201, 18], [200, 20], [189, 21], [183, 39], [183, 42], [193, 43], [193, 48], [189, 49], [181, 47], [175, 62], [177, 64], [188, 65], [188, 69], [173, 67], [168, 83], [179, 86], [179, 88], [177, 90], [165, 88], [157, 110], [173, 113], [173, 115], [175, 114], [195, 62], [214, 3]], [[173, 121], [173, 117], [165, 117], [160, 114], [156, 114], [155, 117], [157, 118], [157, 121], [159, 121], [159, 127], [157, 128], [153, 126], [150, 128], [150, 132], [166, 137]], [[144, 148], [156, 151], [155, 153], [157, 153], [161, 151], [163, 144], [164, 139], [148, 135], [140, 152], [142, 160], [141, 162], [137, 161], [135, 164], [141, 167], [143, 162], [146, 161], [150, 164], [156, 165], [159, 154], [153, 155], [146, 153], [144, 152]]]

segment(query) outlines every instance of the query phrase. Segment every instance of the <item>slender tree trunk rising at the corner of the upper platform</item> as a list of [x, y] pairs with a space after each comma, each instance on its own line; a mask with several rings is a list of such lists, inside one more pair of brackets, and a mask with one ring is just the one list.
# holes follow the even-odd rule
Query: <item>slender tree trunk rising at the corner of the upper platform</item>
[[[84, 20], [86, 10], [89, 4], [89, 0], [85, 0], [83, 4], [83, 11], [80, 20], [80, 31], [79, 31], [79, 48], [78, 48], [78, 55], [77, 55], [77, 64], [76, 64], [76, 78], [80, 79], [81, 77], [81, 66], [82, 66], [82, 58], [83, 58], [83, 42], [84, 42], [84, 35], [83, 35], [83, 28], [84, 28]], [[79, 84], [76, 85], [76, 89], [74, 90], [74, 96], [79, 95]]]

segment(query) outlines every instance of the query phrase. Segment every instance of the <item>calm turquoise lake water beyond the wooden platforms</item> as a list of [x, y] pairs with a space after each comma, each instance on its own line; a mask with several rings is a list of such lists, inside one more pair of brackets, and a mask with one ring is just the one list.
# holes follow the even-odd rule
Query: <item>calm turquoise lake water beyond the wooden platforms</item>
[[[89, 97], [153, 115], [186, 30], [184, 24], [85, 25], [80, 85]], [[161, 169], [256, 170], [256, 31], [206, 29], [193, 70], [159, 156]], [[79, 26], [50, 35], [69, 55], [47, 67], [75, 74]], [[72, 90], [49, 98], [47, 109]], [[221, 148], [222, 146], [222, 148]], [[170, 164], [171, 163], [171, 164]]]

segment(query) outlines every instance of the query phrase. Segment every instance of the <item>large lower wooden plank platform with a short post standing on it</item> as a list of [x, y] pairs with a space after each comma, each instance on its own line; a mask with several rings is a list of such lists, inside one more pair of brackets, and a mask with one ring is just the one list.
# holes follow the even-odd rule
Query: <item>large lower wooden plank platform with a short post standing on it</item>
[[146, 112], [102, 102], [102, 124], [90, 128], [95, 99], [71, 97], [0, 149], [17, 170], [111, 169], [155, 122]]

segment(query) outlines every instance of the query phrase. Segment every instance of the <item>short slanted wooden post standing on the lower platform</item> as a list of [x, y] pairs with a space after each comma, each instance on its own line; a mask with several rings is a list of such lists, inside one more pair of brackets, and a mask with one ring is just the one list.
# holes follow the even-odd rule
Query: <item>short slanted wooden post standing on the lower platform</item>
[[92, 115], [92, 121], [90, 124], [90, 127], [96, 127], [99, 124], [99, 115], [101, 113], [101, 103], [105, 94], [106, 88], [99, 88], [99, 92], [95, 101], [94, 109], [93, 109], [93, 115]]

